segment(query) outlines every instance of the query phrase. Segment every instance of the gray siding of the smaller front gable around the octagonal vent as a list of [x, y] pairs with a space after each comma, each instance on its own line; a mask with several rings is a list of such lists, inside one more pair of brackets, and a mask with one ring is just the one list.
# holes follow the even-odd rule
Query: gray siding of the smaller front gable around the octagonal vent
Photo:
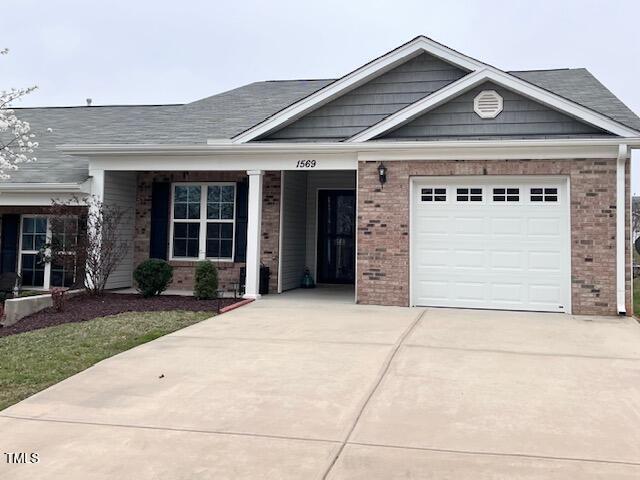
[[[496, 118], [483, 119], [473, 111], [473, 99], [482, 90], [495, 90], [503, 97], [503, 111]], [[487, 82], [379, 138], [429, 140], [451, 137], [526, 138], [585, 135], [600, 136], [606, 133]]]

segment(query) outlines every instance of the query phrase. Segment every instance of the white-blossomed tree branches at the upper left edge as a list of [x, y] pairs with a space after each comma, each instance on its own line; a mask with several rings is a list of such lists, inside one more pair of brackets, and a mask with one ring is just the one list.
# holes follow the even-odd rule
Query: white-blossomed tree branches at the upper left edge
[[[0, 55], [6, 55], [9, 50], [0, 50]], [[33, 92], [37, 87], [11, 88], [0, 90], [0, 179], [6, 180], [12, 170], [25, 162], [34, 162], [33, 152], [38, 148], [31, 133], [29, 122], [20, 120], [11, 108], [11, 104], [25, 95]]]

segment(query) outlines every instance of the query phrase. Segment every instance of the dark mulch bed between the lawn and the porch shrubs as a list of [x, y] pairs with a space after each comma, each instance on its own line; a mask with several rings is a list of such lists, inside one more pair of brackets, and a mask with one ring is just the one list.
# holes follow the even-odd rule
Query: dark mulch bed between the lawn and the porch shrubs
[[188, 310], [191, 312], [216, 312], [242, 299], [196, 300], [179, 295], [160, 295], [143, 298], [136, 294], [105, 293], [102, 296], [80, 294], [67, 299], [64, 311], [47, 308], [23, 318], [10, 327], [0, 328], [0, 337], [28, 332], [63, 323], [84, 322], [92, 318], [106, 317], [123, 312], [161, 312], [166, 310]]

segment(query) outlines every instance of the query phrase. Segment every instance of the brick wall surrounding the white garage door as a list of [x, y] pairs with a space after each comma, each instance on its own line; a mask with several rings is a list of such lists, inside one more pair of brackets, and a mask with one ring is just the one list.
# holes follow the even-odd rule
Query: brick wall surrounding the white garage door
[[[409, 305], [409, 179], [418, 175], [568, 175], [574, 314], [617, 314], [615, 160], [397, 161], [380, 188], [378, 162], [358, 166], [359, 303]], [[627, 194], [629, 199], [629, 162]], [[629, 212], [628, 204], [625, 208]], [[628, 213], [627, 213], [628, 215]], [[627, 218], [627, 238], [630, 235]], [[629, 244], [629, 242], [627, 242]], [[630, 245], [627, 245], [627, 249]], [[626, 298], [631, 311], [627, 250]]]

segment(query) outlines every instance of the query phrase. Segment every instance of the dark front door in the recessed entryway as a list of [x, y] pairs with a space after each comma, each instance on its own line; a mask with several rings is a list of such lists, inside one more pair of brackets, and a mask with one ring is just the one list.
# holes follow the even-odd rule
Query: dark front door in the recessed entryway
[[318, 195], [318, 282], [354, 283], [356, 203], [354, 190]]

